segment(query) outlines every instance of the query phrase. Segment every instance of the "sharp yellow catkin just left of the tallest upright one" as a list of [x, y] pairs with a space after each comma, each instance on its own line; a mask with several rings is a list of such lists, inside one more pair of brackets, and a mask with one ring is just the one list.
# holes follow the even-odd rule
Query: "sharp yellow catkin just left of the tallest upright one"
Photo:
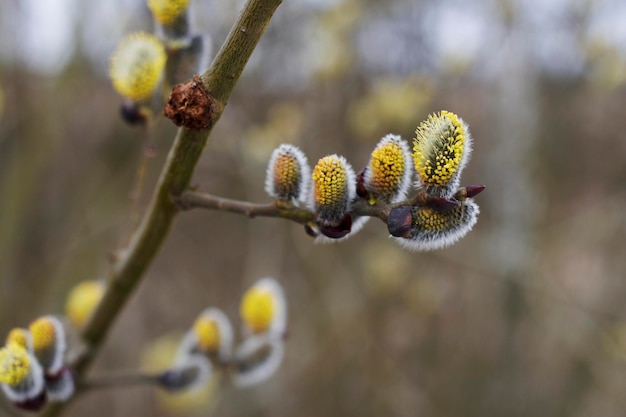
[[413, 161], [407, 143], [397, 135], [383, 137], [363, 174], [370, 204], [395, 203], [406, 198], [412, 173]]

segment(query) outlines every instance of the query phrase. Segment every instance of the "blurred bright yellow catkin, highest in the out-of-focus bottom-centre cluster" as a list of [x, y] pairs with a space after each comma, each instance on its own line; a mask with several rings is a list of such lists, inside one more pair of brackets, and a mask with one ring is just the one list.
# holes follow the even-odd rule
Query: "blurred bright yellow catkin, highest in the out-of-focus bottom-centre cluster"
[[287, 303], [280, 284], [261, 278], [241, 300], [241, 318], [250, 333], [283, 335], [287, 330]]

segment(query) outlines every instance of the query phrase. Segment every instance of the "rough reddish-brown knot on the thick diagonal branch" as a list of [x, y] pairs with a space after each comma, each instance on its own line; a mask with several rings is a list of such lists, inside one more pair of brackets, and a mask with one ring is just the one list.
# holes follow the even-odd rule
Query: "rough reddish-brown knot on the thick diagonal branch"
[[220, 103], [196, 75], [191, 81], [172, 88], [163, 114], [176, 126], [200, 130], [213, 126], [220, 110]]

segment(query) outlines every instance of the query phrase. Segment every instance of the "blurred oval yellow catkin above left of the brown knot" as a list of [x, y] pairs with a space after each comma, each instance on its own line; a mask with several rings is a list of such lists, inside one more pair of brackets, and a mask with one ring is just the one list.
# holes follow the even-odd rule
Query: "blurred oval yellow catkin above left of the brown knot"
[[133, 101], [143, 101], [158, 87], [166, 60], [165, 48], [156, 36], [131, 33], [111, 55], [109, 77], [119, 94]]

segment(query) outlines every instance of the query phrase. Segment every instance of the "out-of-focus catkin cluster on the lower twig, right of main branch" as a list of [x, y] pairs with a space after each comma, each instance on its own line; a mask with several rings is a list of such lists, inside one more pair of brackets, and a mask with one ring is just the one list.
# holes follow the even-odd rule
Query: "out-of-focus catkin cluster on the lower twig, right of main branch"
[[206, 385], [216, 370], [236, 387], [269, 378], [280, 366], [287, 331], [287, 304], [273, 278], [261, 278], [242, 297], [241, 341], [235, 346], [233, 327], [224, 312], [210, 307], [196, 318], [180, 342], [170, 369], [157, 376], [161, 388], [192, 392]]

